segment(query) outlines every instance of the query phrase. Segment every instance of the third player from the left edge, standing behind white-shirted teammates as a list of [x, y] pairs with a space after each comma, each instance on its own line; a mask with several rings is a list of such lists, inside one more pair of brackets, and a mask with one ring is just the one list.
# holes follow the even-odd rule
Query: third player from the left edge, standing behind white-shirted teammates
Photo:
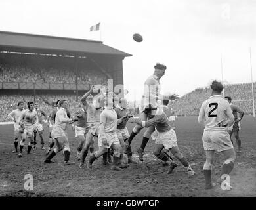
[[40, 110], [38, 108], [38, 103], [35, 103], [35, 111], [37, 112], [38, 116], [38, 123], [37, 127], [34, 128], [33, 130], [33, 150], [36, 149], [36, 144], [37, 144], [37, 131], [39, 133], [39, 137], [41, 138], [41, 149], [44, 150], [44, 144], [45, 142], [43, 141], [43, 116], [46, 118], [47, 114], [43, 110]]

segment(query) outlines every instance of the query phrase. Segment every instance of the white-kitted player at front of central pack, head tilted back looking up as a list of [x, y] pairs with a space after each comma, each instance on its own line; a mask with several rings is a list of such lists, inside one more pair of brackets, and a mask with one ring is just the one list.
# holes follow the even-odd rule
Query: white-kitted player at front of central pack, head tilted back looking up
[[123, 171], [118, 167], [119, 158], [122, 153], [122, 148], [117, 137], [117, 124], [127, 120], [127, 116], [117, 119], [116, 111], [114, 110], [114, 93], [106, 95], [107, 106], [100, 114], [100, 133], [98, 135], [98, 151], [94, 152], [93, 156], [87, 161], [87, 168], [91, 169], [95, 159], [108, 152], [108, 148], [114, 150], [112, 170]]

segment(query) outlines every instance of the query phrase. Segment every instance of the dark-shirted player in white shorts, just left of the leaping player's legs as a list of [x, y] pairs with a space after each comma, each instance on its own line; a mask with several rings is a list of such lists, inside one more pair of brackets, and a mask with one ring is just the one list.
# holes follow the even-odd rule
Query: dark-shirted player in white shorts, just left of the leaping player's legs
[[[127, 100], [125, 98], [120, 98], [119, 99], [119, 103], [116, 104], [114, 110], [116, 111], [117, 114], [117, 119], [121, 119], [121, 117], [125, 117], [127, 116]], [[127, 121], [123, 121], [121, 123], [119, 123], [119, 125], [117, 125], [117, 137], [119, 138], [121, 147], [123, 148], [124, 151], [124, 147], [125, 147], [125, 142], [129, 139], [130, 135], [129, 135], [129, 131], [126, 127], [126, 123]], [[133, 152], [131, 151], [131, 145], [129, 145], [128, 151], [127, 151], [127, 157], [128, 157], [128, 163], [134, 163], [136, 164], [137, 162], [133, 161]], [[122, 161], [123, 158], [123, 152], [120, 155], [120, 163]], [[119, 165], [120, 167], [120, 165]]]

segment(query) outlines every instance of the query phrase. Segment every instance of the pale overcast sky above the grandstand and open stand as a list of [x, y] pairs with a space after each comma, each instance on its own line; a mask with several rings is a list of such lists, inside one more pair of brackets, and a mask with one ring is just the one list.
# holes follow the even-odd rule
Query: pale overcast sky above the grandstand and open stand
[[[251, 82], [251, 48], [256, 80], [253, 0], [1, 0], [0, 9], [1, 31], [101, 40], [133, 54], [123, 60], [129, 100], [140, 100], [156, 62], [167, 66], [161, 93], [182, 96], [213, 79]], [[90, 32], [98, 22], [100, 31]], [[133, 41], [134, 33], [144, 40]]]

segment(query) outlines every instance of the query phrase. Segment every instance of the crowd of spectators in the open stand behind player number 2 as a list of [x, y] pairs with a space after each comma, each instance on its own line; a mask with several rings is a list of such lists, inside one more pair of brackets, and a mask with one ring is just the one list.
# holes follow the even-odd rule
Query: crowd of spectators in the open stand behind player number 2
[[[254, 100], [256, 99], [256, 83], [254, 85]], [[197, 116], [204, 100], [211, 96], [211, 89], [200, 88], [182, 96], [177, 102], [172, 102], [171, 106], [179, 116]], [[244, 110], [245, 114], [253, 114], [253, 101], [251, 93], [251, 83], [235, 85], [225, 85], [224, 96], [232, 98], [232, 104]], [[255, 104], [256, 109], [256, 104]]]

